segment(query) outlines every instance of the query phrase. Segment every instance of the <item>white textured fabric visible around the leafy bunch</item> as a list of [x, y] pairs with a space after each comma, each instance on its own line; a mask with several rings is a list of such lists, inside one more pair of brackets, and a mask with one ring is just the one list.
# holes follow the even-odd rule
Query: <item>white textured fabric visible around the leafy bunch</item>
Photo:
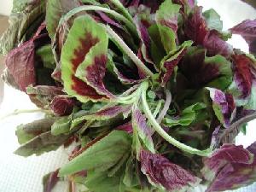
[[[216, 9], [222, 20], [224, 20], [224, 29], [235, 26], [241, 20], [256, 18], [255, 10], [240, 3], [238, 0], [198, 0], [198, 3], [203, 5], [205, 9]], [[233, 44], [236, 48], [248, 49], [245, 41], [239, 36], [234, 36], [230, 40], [230, 44]], [[6, 113], [13, 112], [15, 109], [25, 108], [35, 108], [35, 106], [25, 94], [5, 85], [3, 103], [0, 106], [0, 117]], [[15, 127], [21, 123], [28, 123], [42, 117], [42, 113], [30, 113], [0, 120], [0, 192], [41, 192], [43, 191], [41, 183], [44, 174], [55, 171], [55, 169], [67, 162], [67, 152], [63, 148], [39, 157], [22, 158], [13, 154], [15, 148], [18, 147]], [[255, 127], [255, 121], [249, 123], [247, 137], [239, 135], [237, 143], [247, 147], [250, 143], [256, 141]], [[59, 183], [55, 188], [55, 192], [64, 191], [67, 191], [67, 184], [64, 182]], [[202, 192], [204, 188], [196, 191]], [[236, 190], [236, 192], [254, 191], [256, 191], [256, 184]]]

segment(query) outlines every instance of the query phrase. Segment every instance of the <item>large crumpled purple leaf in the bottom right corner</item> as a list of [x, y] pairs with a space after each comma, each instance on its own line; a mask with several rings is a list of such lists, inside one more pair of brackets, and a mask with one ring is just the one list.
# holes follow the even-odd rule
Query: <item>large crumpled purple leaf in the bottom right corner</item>
[[238, 189], [255, 180], [256, 143], [247, 149], [242, 146], [225, 144], [204, 160], [204, 177], [211, 182], [207, 192]]

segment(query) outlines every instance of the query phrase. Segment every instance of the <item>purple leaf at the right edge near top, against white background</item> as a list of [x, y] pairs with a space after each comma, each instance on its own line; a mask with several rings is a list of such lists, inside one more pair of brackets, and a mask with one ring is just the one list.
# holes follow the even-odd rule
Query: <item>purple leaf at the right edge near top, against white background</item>
[[250, 52], [256, 54], [256, 20], [243, 20], [230, 31], [233, 34], [241, 35], [249, 44]]

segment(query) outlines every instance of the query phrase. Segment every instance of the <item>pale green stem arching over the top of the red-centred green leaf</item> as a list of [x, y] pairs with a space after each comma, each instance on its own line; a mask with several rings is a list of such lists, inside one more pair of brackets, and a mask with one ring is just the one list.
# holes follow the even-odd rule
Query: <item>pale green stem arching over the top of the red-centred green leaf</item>
[[123, 15], [120, 15], [119, 13], [117, 13], [112, 9], [102, 8], [100, 6], [94, 6], [94, 5], [84, 5], [69, 11], [61, 19], [61, 21], [59, 22], [59, 25], [62, 23], [63, 20], [69, 20], [71, 17], [73, 17], [73, 15], [78, 14], [79, 12], [82, 12], [82, 11], [102, 11], [104, 13], [113, 15], [114, 18], [123, 21], [125, 25], [131, 30], [133, 35], [137, 36], [136, 26], [130, 20], [127, 20]]

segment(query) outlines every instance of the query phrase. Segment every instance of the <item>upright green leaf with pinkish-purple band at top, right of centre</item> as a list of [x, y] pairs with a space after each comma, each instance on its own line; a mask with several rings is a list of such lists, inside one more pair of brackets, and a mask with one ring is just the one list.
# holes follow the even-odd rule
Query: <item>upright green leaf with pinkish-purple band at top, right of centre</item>
[[173, 4], [172, 0], [166, 0], [161, 3], [160, 8], [155, 13], [160, 38], [166, 53], [176, 49], [177, 15], [180, 8], [181, 6]]

